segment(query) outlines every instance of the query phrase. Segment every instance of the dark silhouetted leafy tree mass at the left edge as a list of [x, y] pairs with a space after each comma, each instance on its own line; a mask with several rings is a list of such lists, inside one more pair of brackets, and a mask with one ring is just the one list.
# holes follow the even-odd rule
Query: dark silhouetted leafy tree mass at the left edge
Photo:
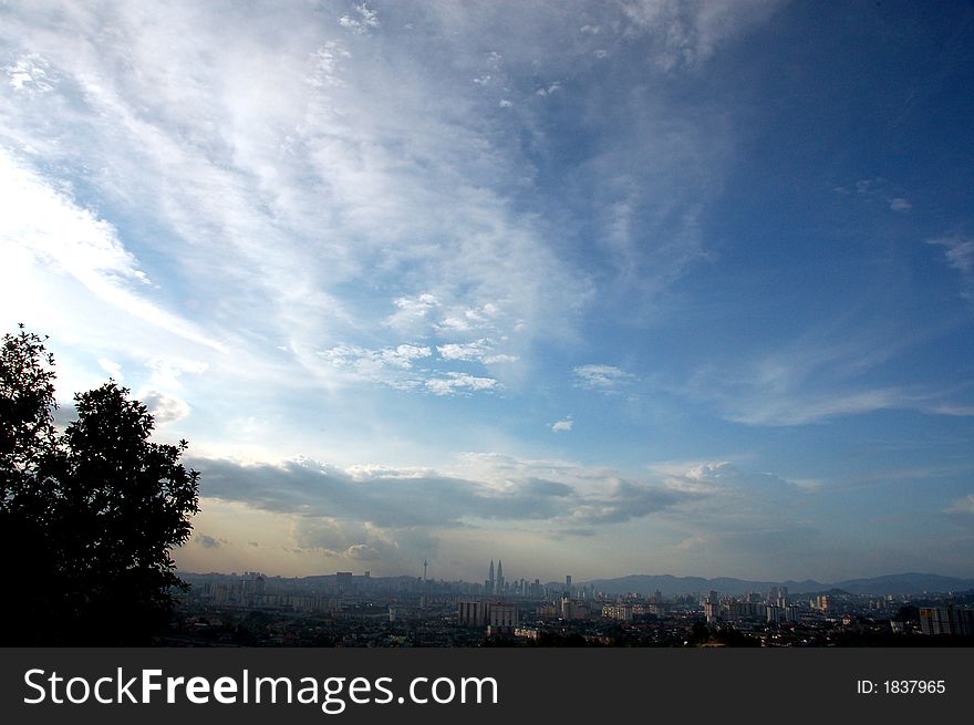
[[2, 598], [6, 644], [147, 644], [168, 620], [170, 550], [189, 538], [199, 474], [186, 442], [152, 443], [153, 417], [108, 382], [75, 395], [54, 426], [43, 339], [4, 335], [0, 352], [0, 550], [22, 595]]

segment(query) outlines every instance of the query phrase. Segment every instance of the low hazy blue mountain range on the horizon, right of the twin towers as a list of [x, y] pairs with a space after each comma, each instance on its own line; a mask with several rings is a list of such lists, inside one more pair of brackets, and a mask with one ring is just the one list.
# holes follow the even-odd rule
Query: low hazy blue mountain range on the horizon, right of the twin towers
[[616, 579], [594, 579], [586, 582], [594, 584], [599, 591], [613, 594], [639, 592], [652, 594], [659, 590], [665, 595], [691, 594], [694, 592], [718, 591], [724, 594], [744, 594], [748, 591], [766, 592], [773, 587], [787, 587], [791, 594], [819, 593], [841, 590], [850, 594], [922, 594], [924, 592], [949, 592], [974, 590], [974, 579], [941, 577], [940, 574], [904, 573], [887, 574], [870, 579], [849, 579], [825, 584], [811, 579], [805, 581], [748, 581], [718, 577], [673, 577], [671, 574], [630, 574]]

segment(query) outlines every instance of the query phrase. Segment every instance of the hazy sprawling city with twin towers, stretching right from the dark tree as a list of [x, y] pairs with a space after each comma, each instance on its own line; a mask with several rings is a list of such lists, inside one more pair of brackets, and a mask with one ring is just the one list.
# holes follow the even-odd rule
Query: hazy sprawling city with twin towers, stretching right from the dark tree
[[252, 629], [245, 644], [335, 646], [476, 646], [485, 636], [521, 644], [539, 639], [551, 644], [552, 638], [605, 644], [622, 638], [638, 646], [693, 646], [707, 630], [714, 641], [723, 636], [737, 645], [743, 638], [767, 646], [848, 645], [868, 638], [892, 645], [883, 638], [902, 634], [974, 636], [974, 592], [915, 599], [839, 590], [794, 595], [778, 586], [763, 593], [664, 599], [661, 591], [610, 594], [593, 584], [576, 586], [571, 576], [563, 583], [508, 581], [500, 560], [496, 567], [490, 561], [483, 584], [433, 581], [425, 569], [422, 578], [379, 579], [342, 571], [297, 579], [191, 574], [182, 634], [236, 642], [236, 630], [219, 624], [236, 621]]

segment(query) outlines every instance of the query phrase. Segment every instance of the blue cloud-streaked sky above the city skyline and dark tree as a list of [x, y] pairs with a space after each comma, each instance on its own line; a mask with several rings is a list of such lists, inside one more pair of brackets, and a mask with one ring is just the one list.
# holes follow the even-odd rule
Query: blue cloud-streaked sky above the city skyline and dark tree
[[0, 328], [184, 571], [974, 576], [974, 7], [0, 3]]

